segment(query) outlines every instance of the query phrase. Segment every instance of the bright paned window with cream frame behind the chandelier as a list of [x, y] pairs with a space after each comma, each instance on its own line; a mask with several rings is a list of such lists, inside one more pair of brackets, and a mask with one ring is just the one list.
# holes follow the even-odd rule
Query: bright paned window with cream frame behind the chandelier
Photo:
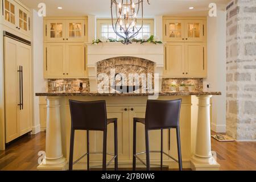
[[[138, 20], [136, 27], [138, 29], [141, 28], [141, 20]], [[142, 39], [144, 36], [149, 38], [151, 35], [154, 35], [154, 19], [144, 19], [143, 27], [135, 39]], [[119, 39], [119, 36], [113, 30], [111, 19], [97, 19], [97, 38]]]

